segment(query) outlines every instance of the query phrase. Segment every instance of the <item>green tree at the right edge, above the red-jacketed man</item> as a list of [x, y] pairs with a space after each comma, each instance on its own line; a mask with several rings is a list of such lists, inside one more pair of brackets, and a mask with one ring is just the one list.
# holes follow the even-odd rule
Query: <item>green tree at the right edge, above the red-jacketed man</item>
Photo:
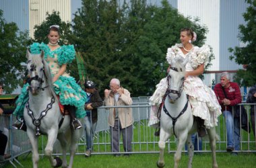
[[246, 24], [239, 26], [238, 38], [247, 46], [236, 46], [229, 50], [232, 52], [231, 60], [234, 59], [238, 65], [246, 65], [246, 70], [239, 69], [234, 80], [241, 85], [252, 86], [256, 81], [256, 1], [247, 0], [246, 2], [249, 4], [247, 11], [243, 14]]

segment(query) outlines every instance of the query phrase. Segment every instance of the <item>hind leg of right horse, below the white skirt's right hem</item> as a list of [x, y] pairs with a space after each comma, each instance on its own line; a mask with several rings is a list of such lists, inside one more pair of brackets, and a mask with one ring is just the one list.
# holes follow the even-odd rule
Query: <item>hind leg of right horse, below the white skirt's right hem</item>
[[209, 139], [210, 139], [210, 146], [212, 150], [212, 167], [218, 168], [218, 163], [216, 161], [216, 130], [214, 127], [207, 129], [207, 132], [209, 134]]

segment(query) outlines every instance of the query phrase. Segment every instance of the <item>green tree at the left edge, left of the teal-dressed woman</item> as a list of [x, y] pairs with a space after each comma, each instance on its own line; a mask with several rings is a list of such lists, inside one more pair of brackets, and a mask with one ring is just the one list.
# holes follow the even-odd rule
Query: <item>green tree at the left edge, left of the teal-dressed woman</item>
[[18, 26], [7, 23], [0, 10], [0, 83], [5, 85], [6, 93], [11, 93], [22, 84], [21, 62], [26, 61], [26, 46], [30, 43], [28, 32], [21, 32]]

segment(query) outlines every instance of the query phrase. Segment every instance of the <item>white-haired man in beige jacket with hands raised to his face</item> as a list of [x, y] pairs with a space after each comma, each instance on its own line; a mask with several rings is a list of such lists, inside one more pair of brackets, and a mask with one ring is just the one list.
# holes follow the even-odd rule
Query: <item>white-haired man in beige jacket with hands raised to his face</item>
[[[119, 79], [111, 79], [110, 90], [104, 90], [105, 106], [131, 106], [133, 103], [130, 92], [120, 86]], [[110, 108], [108, 125], [111, 134], [111, 151], [115, 157], [119, 151], [119, 132], [123, 136], [123, 148], [125, 152], [131, 152], [131, 140], [133, 137], [133, 112], [131, 108]], [[129, 156], [129, 154], [125, 154]]]

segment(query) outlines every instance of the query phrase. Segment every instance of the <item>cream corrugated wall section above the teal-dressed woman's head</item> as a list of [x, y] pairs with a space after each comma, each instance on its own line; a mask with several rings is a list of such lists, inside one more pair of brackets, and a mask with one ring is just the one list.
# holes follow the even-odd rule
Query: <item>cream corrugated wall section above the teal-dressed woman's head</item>
[[29, 0], [29, 31], [34, 38], [34, 26], [46, 19], [46, 12], [59, 11], [63, 22], [71, 22], [71, 0]]

